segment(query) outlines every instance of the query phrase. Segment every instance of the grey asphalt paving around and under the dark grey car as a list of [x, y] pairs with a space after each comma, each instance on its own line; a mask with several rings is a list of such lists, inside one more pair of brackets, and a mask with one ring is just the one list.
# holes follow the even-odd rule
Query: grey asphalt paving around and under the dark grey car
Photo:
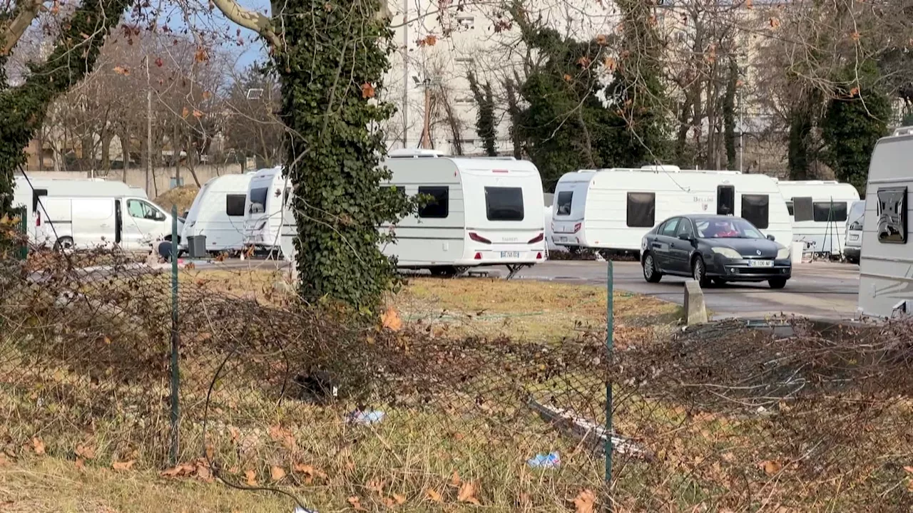
[[[586, 261], [551, 261], [524, 269], [519, 277], [565, 283], [604, 285], [606, 264]], [[685, 278], [663, 277], [647, 283], [637, 262], [614, 263], [614, 287], [647, 294], [681, 304]], [[761, 318], [794, 313], [824, 319], [850, 319], [855, 315], [859, 292], [859, 267], [850, 264], [814, 262], [792, 267], [792, 279], [782, 290], [766, 282], [727, 284], [704, 289], [707, 308], [714, 318]]]

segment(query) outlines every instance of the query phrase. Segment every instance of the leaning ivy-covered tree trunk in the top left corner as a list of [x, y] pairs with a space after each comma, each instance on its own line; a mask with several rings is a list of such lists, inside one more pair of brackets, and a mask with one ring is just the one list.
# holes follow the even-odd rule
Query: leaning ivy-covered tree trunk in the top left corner
[[26, 146], [47, 108], [94, 67], [104, 36], [128, 5], [127, 0], [83, 0], [64, 24], [54, 50], [31, 68], [25, 83], [10, 88], [0, 78], [0, 216], [10, 212], [13, 173], [26, 163]]

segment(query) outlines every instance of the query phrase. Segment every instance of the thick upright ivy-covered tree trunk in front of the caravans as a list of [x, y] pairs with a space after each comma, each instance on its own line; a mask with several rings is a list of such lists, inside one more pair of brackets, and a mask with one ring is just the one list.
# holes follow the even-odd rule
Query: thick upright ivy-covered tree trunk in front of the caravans
[[[393, 112], [375, 99], [392, 33], [376, 0], [289, 0], [274, 62], [288, 127], [285, 172], [294, 183], [299, 292], [356, 309], [376, 307], [394, 285], [394, 263], [378, 226], [407, 211], [404, 194], [382, 188], [380, 126]], [[275, 11], [274, 11], [275, 12]]]

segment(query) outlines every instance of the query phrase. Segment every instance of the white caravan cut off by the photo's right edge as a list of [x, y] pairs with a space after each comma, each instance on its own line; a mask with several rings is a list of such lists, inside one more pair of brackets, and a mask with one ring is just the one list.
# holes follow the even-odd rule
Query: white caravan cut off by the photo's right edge
[[879, 140], [872, 152], [859, 263], [859, 312], [865, 316], [913, 315], [913, 246], [908, 225], [911, 156], [913, 127], [895, 130]]

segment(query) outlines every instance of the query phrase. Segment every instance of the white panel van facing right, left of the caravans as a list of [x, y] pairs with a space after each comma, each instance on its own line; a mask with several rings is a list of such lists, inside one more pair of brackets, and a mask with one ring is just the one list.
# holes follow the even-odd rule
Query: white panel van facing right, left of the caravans
[[55, 248], [148, 251], [172, 235], [172, 216], [144, 198], [53, 196], [40, 200], [37, 212], [37, 236]]

